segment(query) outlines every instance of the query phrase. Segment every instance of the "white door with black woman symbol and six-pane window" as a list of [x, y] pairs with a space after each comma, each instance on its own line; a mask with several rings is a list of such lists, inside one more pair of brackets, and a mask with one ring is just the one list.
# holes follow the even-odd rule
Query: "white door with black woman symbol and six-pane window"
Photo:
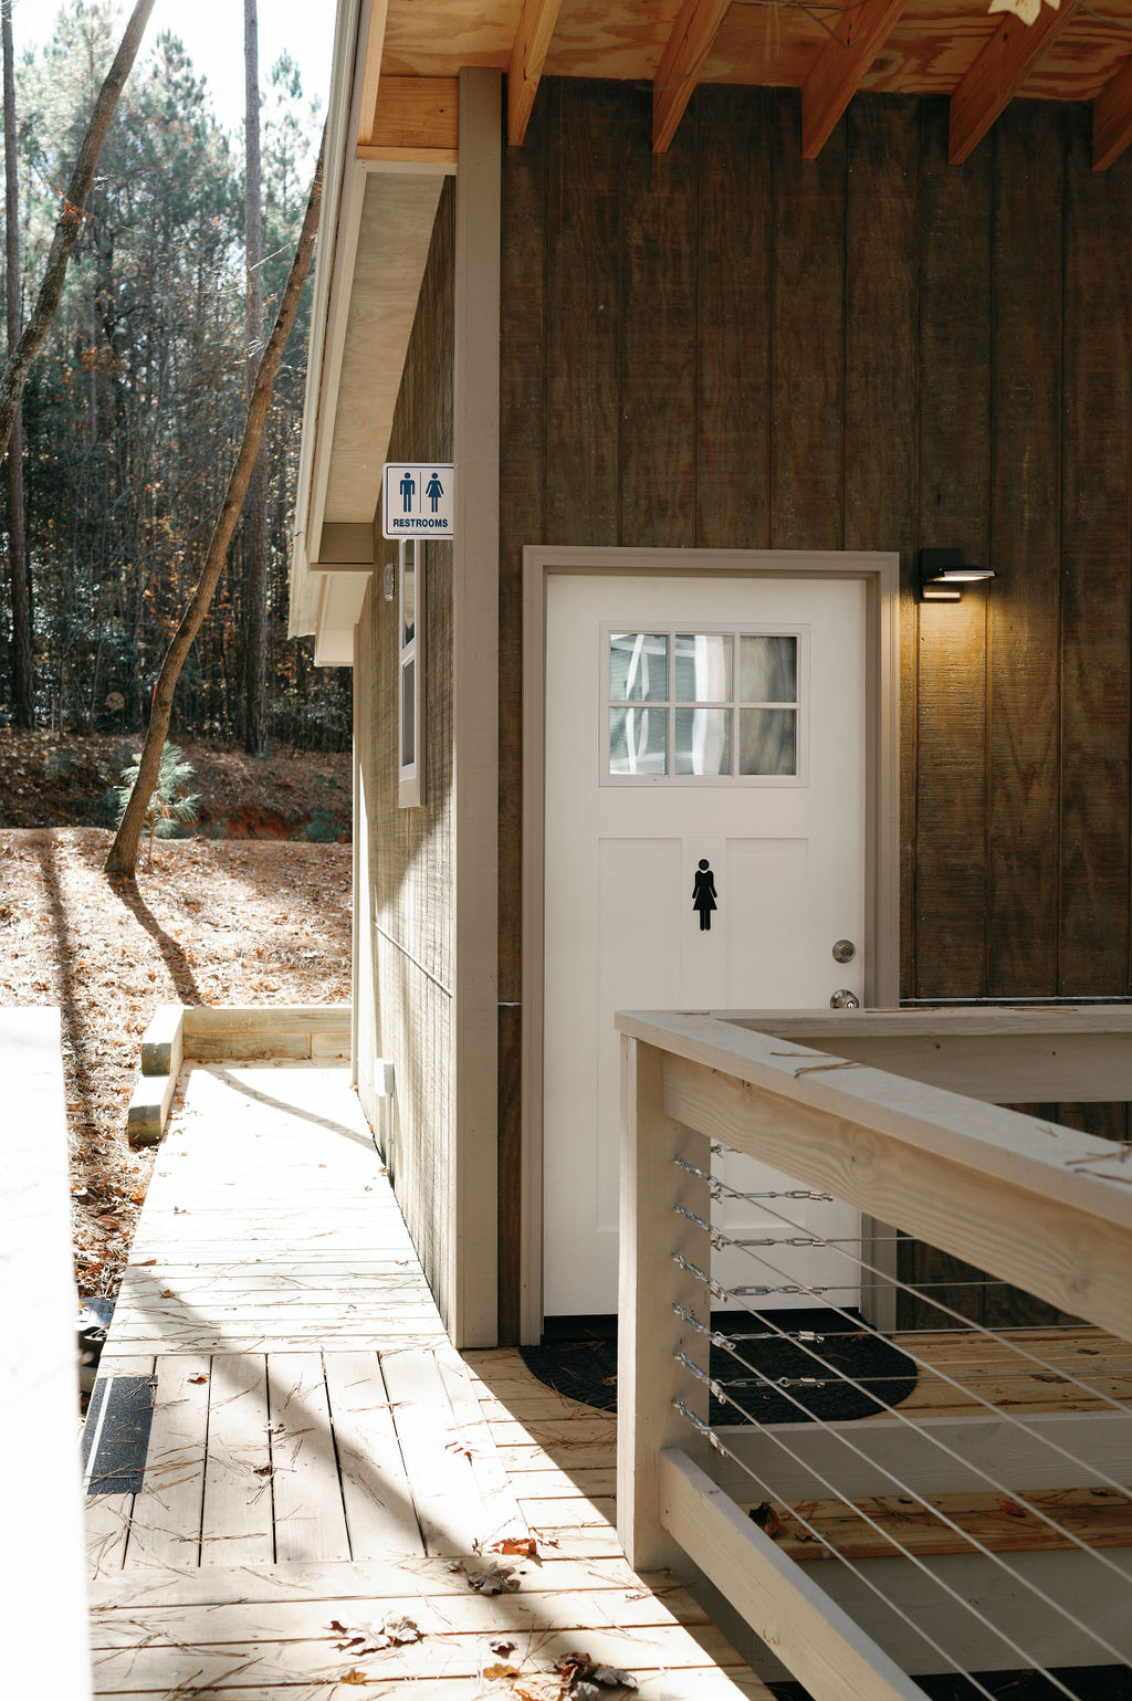
[[[865, 585], [606, 577], [546, 587], [543, 1305], [616, 1311], [618, 1009], [827, 1009], [861, 997]], [[856, 956], [834, 961], [838, 941]], [[747, 1158], [727, 1179], [790, 1191]], [[785, 1211], [858, 1250], [860, 1216], [730, 1204], [729, 1235], [788, 1240]], [[824, 1247], [717, 1254], [727, 1286], [829, 1286]], [[764, 1262], [758, 1262], [763, 1259]], [[814, 1305], [749, 1294], [746, 1305]]]

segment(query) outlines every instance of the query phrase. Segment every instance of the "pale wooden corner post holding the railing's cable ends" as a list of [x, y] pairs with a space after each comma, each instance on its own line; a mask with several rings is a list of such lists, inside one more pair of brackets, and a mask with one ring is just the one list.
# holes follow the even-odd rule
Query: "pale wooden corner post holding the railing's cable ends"
[[712, 1198], [708, 1182], [677, 1167], [676, 1157], [706, 1174], [712, 1145], [664, 1114], [664, 1051], [621, 1034], [618, 1536], [635, 1570], [691, 1568], [660, 1524], [657, 1461], [662, 1448], [698, 1458], [706, 1451], [672, 1400], [706, 1424], [708, 1388], [676, 1356], [706, 1371], [708, 1340], [674, 1306], [708, 1323], [712, 1300], [674, 1254], [710, 1271], [712, 1249], [706, 1230], [674, 1208], [706, 1223]]

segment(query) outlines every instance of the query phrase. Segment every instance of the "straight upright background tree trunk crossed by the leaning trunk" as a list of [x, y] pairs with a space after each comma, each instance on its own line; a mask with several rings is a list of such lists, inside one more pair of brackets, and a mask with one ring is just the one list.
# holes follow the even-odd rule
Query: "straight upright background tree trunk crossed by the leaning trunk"
[[[259, 156], [259, 20], [243, 0], [243, 242], [247, 252], [247, 395], [264, 342], [264, 197]], [[260, 446], [243, 514], [247, 560], [243, 748], [267, 755], [267, 451]]]

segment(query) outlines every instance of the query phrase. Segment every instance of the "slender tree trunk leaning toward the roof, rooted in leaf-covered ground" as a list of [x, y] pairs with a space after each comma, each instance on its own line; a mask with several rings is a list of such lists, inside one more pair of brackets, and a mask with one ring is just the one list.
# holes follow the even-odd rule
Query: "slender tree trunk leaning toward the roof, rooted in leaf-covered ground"
[[192, 646], [192, 640], [208, 614], [208, 606], [213, 600], [213, 594], [220, 583], [220, 575], [223, 573], [225, 561], [228, 560], [232, 536], [237, 529], [240, 510], [247, 497], [255, 456], [259, 454], [264, 441], [264, 425], [267, 424], [267, 408], [271, 407], [271, 390], [276, 381], [276, 373], [279, 371], [279, 361], [283, 359], [286, 340], [291, 333], [291, 327], [294, 325], [294, 315], [298, 313], [298, 303], [303, 294], [306, 272], [310, 270], [310, 257], [315, 248], [318, 211], [322, 206], [322, 165], [325, 146], [327, 139], [323, 131], [322, 148], [318, 150], [318, 165], [315, 167], [315, 179], [310, 185], [310, 199], [303, 218], [303, 230], [300, 231], [298, 248], [294, 250], [291, 270], [279, 301], [276, 323], [255, 373], [252, 401], [243, 424], [243, 441], [228, 480], [225, 505], [221, 507], [220, 519], [213, 529], [208, 555], [204, 558], [204, 568], [197, 587], [192, 592], [192, 600], [189, 602], [189, 607], [182, 614], [180, 624], [174, 633], [174, 640], [169, 646], [162, 663], [162, 672], [153, 689], [153, 708], [150, 711], [150, 726], [145, 735], [145, 747], [138, 765], [138, 779], [134, 781], [134, 789], [129, 794], [126, 813], [123, 815], [119, 828], [114, 835], [111, 854], [106, 859], [107, 874], [126, 874], [133, 879], [138, 869], [138, 840], [145, 823], [145, 811], [150, 798], [153, 796], [153, 788], [162, 765], [162, 750], [165, 747], [169, 718], [174, 708], [174, 691], [177, 689], [177, 680], [189, 655], [189, 648]]

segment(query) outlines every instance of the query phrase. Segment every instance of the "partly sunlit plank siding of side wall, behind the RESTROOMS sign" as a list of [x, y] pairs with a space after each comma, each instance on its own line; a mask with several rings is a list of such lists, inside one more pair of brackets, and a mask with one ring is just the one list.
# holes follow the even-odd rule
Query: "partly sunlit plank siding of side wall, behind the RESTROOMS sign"
[[[453, 447], [453, 184], [441, 192], [417, 318], [405, 357], [390, 458], [451, 461]], [[386, 1162], [426, 1276], [444, 1311], [449, 1269], [451, 1165], [451, 777], [453, 777], [453, 568], [449, 543], [426, 553], [426, 801], [397, 805], [398, 602], [386, 602], [374, 570], [357, 626], [359, 745], [369, 913], [359, 937], [359, 980], [373, 985], [359, 1024], [359, 1090], [366, 1102], [373, 1058], [393, 1063]], [[374, 561], [395, 560], [374, 517]], [[374, 925], [376, 924], [376, 925]], [[368, 956], [368, 961], [366, 961]], [[376, 1005], [376, 1009], [374, 1009]]]

